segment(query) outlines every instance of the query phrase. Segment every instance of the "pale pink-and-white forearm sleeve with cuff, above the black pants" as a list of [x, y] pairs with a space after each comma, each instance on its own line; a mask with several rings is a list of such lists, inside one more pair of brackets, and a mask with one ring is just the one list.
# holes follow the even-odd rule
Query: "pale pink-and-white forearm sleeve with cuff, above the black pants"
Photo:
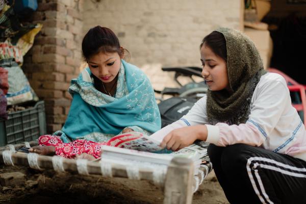
[[210, 129], [211, 127], [208, 127], [207, 142], [214, 143], [217, 146], [227, 146], [237, 143], [260, 146], [265, 140], [259, 130], [249, 123], [239, 125], [217, 123], [213, 129], [219, 129], [219, 131], [210, 132]]

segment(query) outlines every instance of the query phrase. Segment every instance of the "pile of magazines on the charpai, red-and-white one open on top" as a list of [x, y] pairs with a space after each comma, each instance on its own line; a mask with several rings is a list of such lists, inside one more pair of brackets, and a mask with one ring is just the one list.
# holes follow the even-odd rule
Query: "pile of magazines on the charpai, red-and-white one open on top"
[[197, 174], [200, 165], [207, 158], [207, 148], [196, 144], [170, 154], [156, 154], [154, 152], [163, 149], [159, 146], [160, 143], [161, 141], [139, 132], [117, 135], [110, 139], [107, 145], [101, 146], [101, 162], [157, 168], [168, 166], [174, 157], [185, 157], [194, 162], [194, 174]]

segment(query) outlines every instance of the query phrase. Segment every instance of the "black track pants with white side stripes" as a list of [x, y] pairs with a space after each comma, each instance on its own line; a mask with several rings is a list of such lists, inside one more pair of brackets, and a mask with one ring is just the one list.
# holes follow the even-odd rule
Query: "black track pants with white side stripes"
[[306, 203], [303, 160], [246, 144], [210, 144], [208, 155], [230, 203]]

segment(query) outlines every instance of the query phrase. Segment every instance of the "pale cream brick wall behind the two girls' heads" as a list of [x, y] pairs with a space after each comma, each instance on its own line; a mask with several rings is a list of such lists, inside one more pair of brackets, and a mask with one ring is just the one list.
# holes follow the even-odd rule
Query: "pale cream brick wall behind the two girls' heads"
[[200, 66], [202, 38], [220, 26], [242, 30], [241, 11], [241, 0], [93, 0], [84, 4], [83, 34], [109, 27], [139, 67]]

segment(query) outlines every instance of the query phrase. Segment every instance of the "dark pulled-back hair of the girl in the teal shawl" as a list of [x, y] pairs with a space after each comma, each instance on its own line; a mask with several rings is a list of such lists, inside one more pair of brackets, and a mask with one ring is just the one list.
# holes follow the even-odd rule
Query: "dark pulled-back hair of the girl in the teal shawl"
[[97, 25], [91, 28], [83, 38], [82, 52], [83, 57], [87, 61], [90, 57], [100, 52], [102, 53], [118, 53], [122, 56], [126, 49], [122, 49], [115, 33], [106, 27]]

